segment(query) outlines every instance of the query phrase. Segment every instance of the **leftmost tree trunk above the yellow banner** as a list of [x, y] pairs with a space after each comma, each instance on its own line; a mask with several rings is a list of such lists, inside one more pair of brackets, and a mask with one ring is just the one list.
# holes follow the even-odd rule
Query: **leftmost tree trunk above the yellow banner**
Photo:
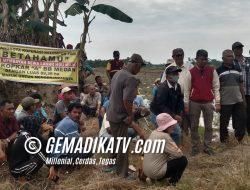
[[2, 40], [8, 41], [8, 29], [9, 29], [9, 6], [6, 0], [2, 0], [2, 9], [3, 9], [3, 34]]

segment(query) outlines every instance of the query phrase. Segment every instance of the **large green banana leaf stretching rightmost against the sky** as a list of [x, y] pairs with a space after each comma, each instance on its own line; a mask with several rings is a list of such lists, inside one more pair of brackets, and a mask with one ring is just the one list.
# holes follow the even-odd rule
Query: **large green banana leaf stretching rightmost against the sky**
[[96, 12], [107, 14], [111, 18], [119, 20], [121, 22], [127, 22], [127, 23], [133, 22], [133, 19], [130, 18], [128, 15], [110, 5], [98, 4], [93, 6], [92, 9]]

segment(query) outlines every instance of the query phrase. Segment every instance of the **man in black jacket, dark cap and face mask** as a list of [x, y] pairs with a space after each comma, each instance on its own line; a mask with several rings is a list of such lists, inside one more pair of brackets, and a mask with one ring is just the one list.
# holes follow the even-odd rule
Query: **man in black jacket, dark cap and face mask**
[[178, 121], [174, 133], [171, 134], [177, 145], [180, 144], [181, 114], [184, 111], [183, 95], [178, 84], [179, 72], [181, 72], [181, 69], [176, 66], [170, 65], [166, 68], [166, 80], [159, 86], [156, 96], [150, 105], [150, 110], [155, 115], [168, 113]]

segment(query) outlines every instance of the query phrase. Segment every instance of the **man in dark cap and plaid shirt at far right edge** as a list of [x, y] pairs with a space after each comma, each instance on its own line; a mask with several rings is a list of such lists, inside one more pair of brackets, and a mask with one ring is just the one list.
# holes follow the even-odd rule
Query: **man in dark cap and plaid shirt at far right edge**
[[235, 57], [234, 62], [240, 66], [243, 74], [243, 87], [247, 106], [247, 133], [250, 135], [250, 60], [242, 55], [243, 47], [244, 45], [242, 43], [235, 42], [232, 45], [232, 50]]

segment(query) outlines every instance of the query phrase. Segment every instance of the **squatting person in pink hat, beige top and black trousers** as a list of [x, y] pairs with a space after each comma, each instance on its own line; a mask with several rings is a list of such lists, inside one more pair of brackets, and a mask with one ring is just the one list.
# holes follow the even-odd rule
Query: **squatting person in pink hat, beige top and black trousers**
[[170, 137], [174, 132], [177, 121], [169, 114], [162, 113], [156, 117], [158, 128], [154, 130], [149, 139], [165, 140], [163, 153], [145, 153], [143, 159], [143, 172], [151, 179], [167, 179], [175, 185], [181, 178], [186, 166], [187, 158]]

